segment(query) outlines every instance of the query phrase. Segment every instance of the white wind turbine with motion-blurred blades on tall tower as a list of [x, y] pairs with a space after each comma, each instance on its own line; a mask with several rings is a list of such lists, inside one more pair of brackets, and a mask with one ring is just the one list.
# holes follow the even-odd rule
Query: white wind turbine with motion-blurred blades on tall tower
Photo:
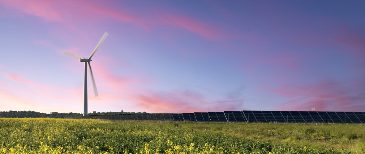
[[101, 43], [104, 42], [104, 40], [105, 40], [105, 38], [107, 38], [107, 36], [108, 36], [108, 32], [105, 32], [103, 37], [101, 37], [99, 43], [97, 43], [95, 49], [90, 54], [89, 58], [84, 58], [82, 56], [78, 56], [77, 54], [66, 52], [64, 50], [62, 50], [62, 52], [61, 52], [65, 56], [78, 58], [78, 59], [80, 59], [80, 62], [85, 62], [85, 66], [84, 66], [84, 116], [88, 115], [88, 81], [87, 81], [88, 78], [87, 78], [87, 71], [86, 71], [87, 65], [89, 64], [89, 72], [90, 72], [90, 76], [91, 76], [92, 85], [94, 88], [94, 94], [95, 94], [95, 97], [97, 97], [99, 95], [97, 94], [96, 84], [95, 84], [95, 80], [94, 80], [94, 75], [91, 70], [90, 62], [92, 61], [91, 57], [94, 56], [96, 50], [99, 49]]

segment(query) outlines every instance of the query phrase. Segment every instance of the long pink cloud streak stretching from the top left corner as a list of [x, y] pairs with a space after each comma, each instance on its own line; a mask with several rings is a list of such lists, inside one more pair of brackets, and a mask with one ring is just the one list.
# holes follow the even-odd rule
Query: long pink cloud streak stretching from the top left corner
[[[222, 39], [227, 37], [217, 28], [203, 21], [192, 17], [178, 15], [171, 12], [158, 13], [146, 10], [148, 19], [141, 19], [135, 12], [127, 9], [112, 8], [112, 3], [99, 3], [93, 1], [1, 1], [7, 8], [14, 8], [28, 16], [36, 16], [46, 21], [56, 21], [73, 29], [75, 22], [83, 19], [92, 19], [91, 22], [101, 22], [105, 18], [114, 19], [124, 23], [137, 25], [145, 29], [173, 25], [178, 28], [187, 29], [197, 35], [208, 39]], [[19, 14], [19, 12], [16, 12]], [[23, 16], [19, 14], [19, 16]], [[62, 34], [60, 34], [62, 35]], [[42, 42], [39, 42], [42, 43]]]

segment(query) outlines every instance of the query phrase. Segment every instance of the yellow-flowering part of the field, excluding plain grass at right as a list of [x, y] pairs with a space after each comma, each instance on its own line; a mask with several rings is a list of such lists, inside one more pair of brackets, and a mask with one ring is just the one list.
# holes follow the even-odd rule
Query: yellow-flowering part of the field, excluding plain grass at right
[[[244, 136], [225, 134], [222, 129], [210, 129], [210, 125], [214, 125], [214, 123], [0, 118], [0, 153], [295, 154], [351, 152], [333, 148], [313, 149], [307, 145], [289, 142], [255, 141]], [[216, 125], [222, 124], [216, 123]], [[197, 127], [203, 129], [197, 129]]]

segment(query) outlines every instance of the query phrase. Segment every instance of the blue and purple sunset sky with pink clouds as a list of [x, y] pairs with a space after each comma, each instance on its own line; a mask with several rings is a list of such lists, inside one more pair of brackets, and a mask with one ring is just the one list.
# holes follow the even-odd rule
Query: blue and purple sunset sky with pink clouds
[[365, 111], [365, 1], [0, 0], [0, 111]]

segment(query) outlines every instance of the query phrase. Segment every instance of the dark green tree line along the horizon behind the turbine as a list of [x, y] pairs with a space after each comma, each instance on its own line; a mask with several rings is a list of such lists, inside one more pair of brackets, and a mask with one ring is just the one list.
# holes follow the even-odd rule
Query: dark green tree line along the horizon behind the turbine
[[[89, 113], [90, 116], [96, 115], [120, 115], [120, 114], [146, 114], [146, 112], [96, 112], [93, 111]], [[35, 111], [1, 111], [0, 117], [1, 118], [65, 118], [65, 117], [78, 117], [82, 116], [81, 113], [58, 113], [58, 112], [51, 112], [49, 113], [41, 113]]]

